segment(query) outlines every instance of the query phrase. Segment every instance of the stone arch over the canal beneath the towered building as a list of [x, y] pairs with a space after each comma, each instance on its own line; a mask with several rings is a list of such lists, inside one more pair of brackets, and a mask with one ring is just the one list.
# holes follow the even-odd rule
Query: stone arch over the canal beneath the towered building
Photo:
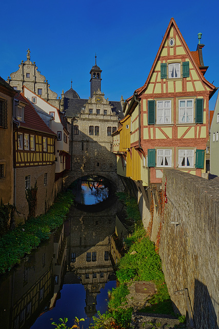
[[97, 175], [110, 180], [115, 188], [116, 192], [124, 190], [122, 180], [119, 175], [113, 171], [102, 171], [102, 170], [81, 170], [81, 171], [68, 171], [63, 177], [63, 188], [67, 189], [73, 181], [84, 176]]

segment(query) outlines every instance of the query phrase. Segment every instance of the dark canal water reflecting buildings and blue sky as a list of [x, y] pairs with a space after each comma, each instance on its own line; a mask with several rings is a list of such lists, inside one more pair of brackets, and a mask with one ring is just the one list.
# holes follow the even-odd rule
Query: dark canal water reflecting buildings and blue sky
[[86, 329], [97, 310], [107, 310], [108, 290], [116, 286], [111, 236], [122, 205], [103, 181], [80, 184], [64, 225], [0, 277], [1, 328], [50, 329], [64, 317], [72, 326], [77, 317]]

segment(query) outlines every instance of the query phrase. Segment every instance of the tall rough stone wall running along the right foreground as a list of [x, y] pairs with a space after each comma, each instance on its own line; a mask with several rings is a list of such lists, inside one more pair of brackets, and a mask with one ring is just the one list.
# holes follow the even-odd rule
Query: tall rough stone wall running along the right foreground
[[[219, 185], [177, 170], [164, 170], [166, 201], [160, 255], [176, 310], [188, 312], [188, 289], [194, 327], [218, 328]], [[171, 224], [179, 222], [180, 224]]]

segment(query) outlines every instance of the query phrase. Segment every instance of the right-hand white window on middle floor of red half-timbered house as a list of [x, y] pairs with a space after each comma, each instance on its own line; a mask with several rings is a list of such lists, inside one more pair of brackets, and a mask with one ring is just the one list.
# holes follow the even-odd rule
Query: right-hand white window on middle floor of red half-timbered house
[[194, 100], [193, 99], [179, 99], [178, 100], [178, 122], [179, 123], [193, 123]]

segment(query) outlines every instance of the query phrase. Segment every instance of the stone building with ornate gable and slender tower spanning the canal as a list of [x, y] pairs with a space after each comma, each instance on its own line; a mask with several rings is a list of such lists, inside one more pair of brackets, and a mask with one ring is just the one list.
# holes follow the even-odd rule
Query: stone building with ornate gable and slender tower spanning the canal
[[[71, 171], [86, 176], [90, 171], [116, 175], [116, 156], [112, 153], [112, 133], [123, 118], [124, 100], [109, 101], [101, 91], [101, 72], [96, 65], [90, 70], [89, 99], [81, 99], [71, 88], [64, 96], [64, 109], [71, 131]], [[109, 175], [108, 175], [109, 176]], [[74, 175], [71, 174], [74, 180]]]

